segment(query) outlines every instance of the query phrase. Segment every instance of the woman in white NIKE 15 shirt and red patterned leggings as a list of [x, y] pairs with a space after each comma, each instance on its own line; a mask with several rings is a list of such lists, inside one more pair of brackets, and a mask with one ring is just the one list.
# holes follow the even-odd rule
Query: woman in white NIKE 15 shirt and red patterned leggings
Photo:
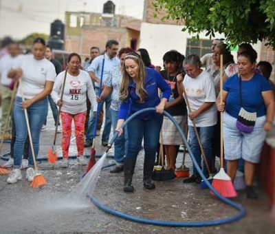
[[72, 120], [74, 120], [76, 147], [78, 150], [78, 162], [87, 164], [83, 156], [84, 151], [84, 129], [87, 114], [86, 91], [94, 111], [97, 109], [96, 94], [94, 86], [88, 72], [80, 70], [81, 58], [78, 54], [69, 54], [67, 61], [67, 77], [65, 81], [65, 89], [63, 100], [61, 101], [61, 90], [64, 84], [65, 71], [56, 76], [54, 89], [52, 90], [52, 98], [54, 102], [61, 107], [62, 120], [62, 167], [69, 166], [69, 144], [72, 135]]

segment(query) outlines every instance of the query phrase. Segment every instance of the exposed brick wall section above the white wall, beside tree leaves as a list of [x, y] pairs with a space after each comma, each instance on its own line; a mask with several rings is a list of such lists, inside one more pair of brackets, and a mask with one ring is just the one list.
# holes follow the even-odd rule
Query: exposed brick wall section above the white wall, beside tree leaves
[[155, 8], [153, 7], [152, 3], [154, 0], [144, 0], [144, 21], [146, 23], [161, 23], [161, 24], [172, 24], [172, 25], [183, 25], [180, 21], [173, 21], [172, 19], [168, 19], [162, 21], [162, 18], [166, 16], [165, 9], [161, 12], [157, 13], [157, 17], [154, 17]]

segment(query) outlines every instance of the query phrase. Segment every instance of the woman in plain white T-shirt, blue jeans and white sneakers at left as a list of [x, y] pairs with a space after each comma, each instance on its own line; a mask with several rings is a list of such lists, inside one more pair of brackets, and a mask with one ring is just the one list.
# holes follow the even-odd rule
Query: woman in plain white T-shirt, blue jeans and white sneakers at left
[[[28, 111], [32, 143], [35, 156], [39, 153], [39, 138], [41, 128], [47, 118], [47, 96], [52, 92], [56, 72], [54, 65], [45, 56], [45, 41], [38, 38], [32, 45], [32, 53], [21, 56], [19, 67], [14, 67], [8, 74], [11, 78], [20, 78], [17, 97], [14, 103], [14, 123], [16, 128], [16, 140], [14, 143], [14, 169], [8, 177], [8, 183], [21, 180], [20, 165], [24, 150], [28, 129], [25, 121], [24, 109]], [[23, 98], [25, 99], [23, 101]], [[34, 178], [34, 162], [32, 153], [29, 153], [29, 168], [26, 178], [32, 181]]]

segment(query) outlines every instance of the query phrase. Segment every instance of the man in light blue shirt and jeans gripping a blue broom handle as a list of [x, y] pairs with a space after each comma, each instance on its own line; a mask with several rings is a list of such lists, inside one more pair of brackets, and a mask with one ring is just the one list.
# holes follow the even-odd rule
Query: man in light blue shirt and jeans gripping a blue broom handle
[[[95, 91], [96, 95], [98, 96], [100, 92], [100, 78], [101, 78], [101, 71], [102, 71], [102, 62], [103, 58], [104, 67], [103, 67], [103, 75], [102, 75], [102, 89], [104, 89], [104, 81], [109, 76], [110, 71], [115, 66], [120, 65], [120, 60], [116, 56], [118, 54], [118, 41], [109, 40], [106, 43], [106, 52], [103, 55], [100, 55], [91, 62], [91, 65], [87, 68], [87, 72], [91, 76], [91, 80], [94, 81], [96, 84]], [[102, 145], [107, 146], [109, 142], [109, 135], [111, 132], [111, 94], [104, 99], [105, 103], [105, 123], [104, 123], [104, 130], [102, 133]], [[102, 103], [102, 105], [103, 105]], [[101, 108], [102, 108], [101, 105]], [[88, 128], [86, 132], [86, 142], [85, 147], [90, 147], [93, 142], [94, 136], [94, 125], [96, 122], [96, 116], [92, 116], [89, 118]]]

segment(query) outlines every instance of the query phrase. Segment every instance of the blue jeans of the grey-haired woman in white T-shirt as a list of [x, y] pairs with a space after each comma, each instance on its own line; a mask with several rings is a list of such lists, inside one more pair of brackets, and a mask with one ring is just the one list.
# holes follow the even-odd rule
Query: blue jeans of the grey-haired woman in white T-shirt
[[[190, 148], [195, 157], [197, 164], [201, 167], [201, 149], [199, 148], [199, 142], [197, 141], [197, 136], [195, 134], [195, 129], [192, 126], [189, 127], [189, 138], [190, 138]], [[211, 164], [211, 155], [212, 155], [212, 138], [214, 134], [214, 126], [210, 127], [197, 127], [197, 131], [199, 133], [199, 138], [201, 140], [201, 145], [203, 147], [204, 153], [206, 154], [206, 159], [208, 165]], [[206, 164], [203, 161], [203, 174], [208, 177], [208, 171], [206, 168]], [[195, 167], [193, 162], [193, 175], [199, 176], [199, 173]]]

